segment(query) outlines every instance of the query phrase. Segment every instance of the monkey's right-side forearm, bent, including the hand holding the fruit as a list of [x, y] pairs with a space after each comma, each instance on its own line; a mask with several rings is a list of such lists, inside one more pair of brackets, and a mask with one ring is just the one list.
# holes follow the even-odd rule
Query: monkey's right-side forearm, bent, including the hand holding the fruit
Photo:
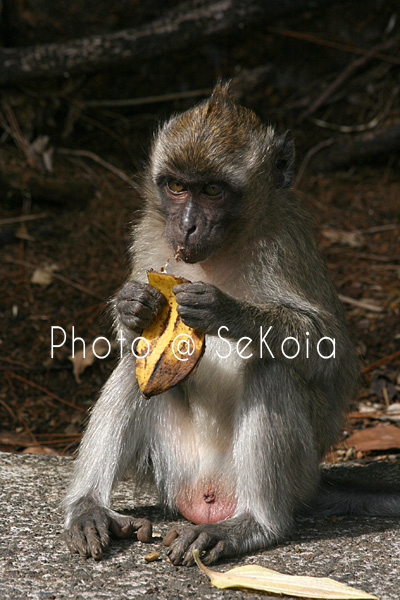
[[[305, 381], [329, 387], [346, 363], [354, 368], [353, 350], [341, 320], [300, 297], [270, 299], [255, 306], [204, 283], [181, 284], [174, 287], [174, 293], [186, 325], [209, 335], [218, 335], [224, 326], [223, 337], [250, 338], [249, 351], [291, 364]], [[322, 338], [328, 339], [319, 343]]]

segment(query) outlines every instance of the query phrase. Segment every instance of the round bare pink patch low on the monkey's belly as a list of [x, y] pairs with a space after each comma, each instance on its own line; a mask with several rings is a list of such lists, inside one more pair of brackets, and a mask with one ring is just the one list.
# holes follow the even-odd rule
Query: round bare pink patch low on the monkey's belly
[[178, 494], [176, 504], [192, 523], [217, 523], [233, 517], [237, 501], [220, 482], [202, 482]]

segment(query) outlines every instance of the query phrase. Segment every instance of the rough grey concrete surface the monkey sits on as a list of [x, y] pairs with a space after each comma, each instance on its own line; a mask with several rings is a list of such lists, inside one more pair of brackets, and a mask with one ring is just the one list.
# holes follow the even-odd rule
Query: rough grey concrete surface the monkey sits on
[[[159, 544], [113, 540], [103, 561], [97, 563], [69, 554], [61, 535], [60, 502], [71, 466], [68, 458], [0, 453], [1, 600], [266, 597], [213, 588], [197, 567], [168, 563]], [[375, 467], [392, 482], [399, 481], [400, 465]], [[340, 474], [342, 470], [334, 471]], [[127, 512], [131, 509], [128, 483], [118, 488], [114, 506]], [[150, 518], [156, 534], [164, 534], [171, 524], [151, 496], [140, 498], [136, 514]], [[161, 560], [147, 564], [144, 556], [155, 549], [161, 551]], [[332, 576], [381, 600], [398, 600], [399, 522], [354, 517], [307, 519], [287, 543], [216, 568], [226, 570], [248, 563], [291, 574]]]

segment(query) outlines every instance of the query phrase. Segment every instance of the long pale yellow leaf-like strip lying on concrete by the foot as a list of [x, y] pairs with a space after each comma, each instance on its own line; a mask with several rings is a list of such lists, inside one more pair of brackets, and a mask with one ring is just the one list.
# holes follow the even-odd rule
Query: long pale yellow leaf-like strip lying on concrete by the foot
[[310, 577], [308, 575], [285, 575], [259, 565], [235, 567], [225, 573], [208, 569], [199, 559], [199, 551], [194, 550], [194, 559], [199, 569], [208, 575], [215, 587], [230, 587], [262, 590], [271, 594], [285, 594], [298, 598], [319, 598], [319, 600], [378, 600], [330, 577]]

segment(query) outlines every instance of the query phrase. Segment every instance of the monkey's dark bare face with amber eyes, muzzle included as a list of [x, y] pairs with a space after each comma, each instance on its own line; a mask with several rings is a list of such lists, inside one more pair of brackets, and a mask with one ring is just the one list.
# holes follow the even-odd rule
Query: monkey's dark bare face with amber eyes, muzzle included
[[221, 182], [174, 177], [161, 180], [159, 190], [165, 233], [179, 257], [196, 263], [212, 256], [237, 218], [232, 190]]

